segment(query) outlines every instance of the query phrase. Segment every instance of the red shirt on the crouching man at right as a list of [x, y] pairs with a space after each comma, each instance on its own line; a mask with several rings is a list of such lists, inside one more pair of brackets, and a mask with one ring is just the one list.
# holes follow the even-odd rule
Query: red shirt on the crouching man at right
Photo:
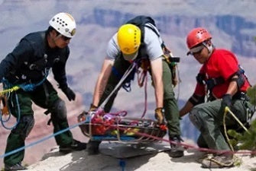
[[[228, 85], [230, 83], [230, 78], [239, 70], [238, 59], [235, 55], [225, 49], [214, 49], [212, 55], [209, 57], [208, 61], [203, 64], [199, 73], [206, 74], [206, 80], [210, 78], [224, 79], [223, 84], [215, 85], [212, 89], [212, 94], [216, 98], [222, 98], [222, 96], [227, 92]], [[250, 87], [247, 79], [245, 79], [245, 84], [241, 86], [240, 90], [246, 92]], [[203, 84], [196, 84], [196, 90], [194, 92], [196, 95], [205, 96], [206, 90]]]

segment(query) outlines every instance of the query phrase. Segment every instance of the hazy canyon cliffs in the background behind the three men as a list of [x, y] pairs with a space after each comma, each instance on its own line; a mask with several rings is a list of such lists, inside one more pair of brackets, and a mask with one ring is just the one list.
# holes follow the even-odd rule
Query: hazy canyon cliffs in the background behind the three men
[[[179, 73], [181, 83], [175, 88], [180, 100], [180, 106], [193, 93], [196, 80], [195, 76], [199, 64], [193, 58], [186, 57], [186, 34], [193, 27], [206, 27], [213, 36], [215, 46], [230, 49], [238, 55], [241, 65], [245, 68], [251, 83], [256, 83], [254, 65], [256, 64], [256, 49], [254, 36], [256, 34], [256, 17], [254, 9], [256, 2], [228, 1], [228, 0], [143, 0], [143, 1], [102, 1], [102, 0], [2, 0], [0, 1], [0, 59], [15, 47], [16, 43], [27, 33], [46, 30], [50, 17], [60, 11], [70, 12], [77, 22], [76, 36], [70, 43], [70, 59], [66, 66], [70, 87], [81, 94], [81, 102], [76, 109], [88, 109], [92, 101], [92, 91], [96, 84], [102, 60], [105, 57], [105, 47], [109, 38], [125, 21], [138, 14], [154, 17], [157, 27], [167, 46], [173, 54], [181, 57]], [[154, 118], [154, 90], [147, 88], [147, 117]], [[63, 96], [63, 99], [66, 98]], [[125, 102], [132, 103], [125, 103]], [[76, 122], [73, 103], [70, 106], [70, 123]], [[80, 107], [80, 108], [79, 108]], [[144, 109], [144, 90], [138, 88], [136, 81], [132, 84], [132, 93], [121, 90], [115, 100], [114, 109], [128, 110], [131, 116], [141, 115]], [[44, 112], [44, 111], [41, 111]], [[36, 112], [41, 113], [41, 112]], [[37, 118], [34, 133], [29, 136], [36, 140], [50, 134], [44, 130], [47, 116]], [[181, 127], [183, 136], [195, 139], [197, 131], [188, 119], [183, 119]], [[44, 131], [42, 131], [44, 130]], [[78, 135], [79, 129], [76, 130]], [[5, 140], [9, 131], [0, 126], [0, 153], [5, 150]], [[40, 133], [40, 134], [38, 134]], [[83, 135], [82, 135], [83, 136]], [[78, 136], [83, 139], [81, 135]], [[29, 141], [28, 138], [28, 141]], [[52, 146], [54, 141], [48, 145]], [[48, 146], [47, 146], [48, 147]], [[34, 148], [33, 148], [34, 149]], [[45, 152], [45, 149], [42, 150]], [[28, 150], [26, 156], [31, 153]], [[31, 163], [34, 157], [25, 158]], [[37, 158], [38, 160], [38, 158]], [[1, 166], [0, 161], [0, 166]], [[33, 160], [34, 162], [34, 160]], [[1, 168], [1, 167], [0, 167]]]

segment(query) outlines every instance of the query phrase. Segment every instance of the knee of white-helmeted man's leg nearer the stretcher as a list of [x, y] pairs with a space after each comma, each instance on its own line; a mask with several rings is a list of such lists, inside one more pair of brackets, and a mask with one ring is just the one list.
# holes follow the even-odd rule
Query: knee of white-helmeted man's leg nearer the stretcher
[[51, 117], [61, 120], [66, 119], [66, 103], [63, 100], [57, 100], [50, 111]]

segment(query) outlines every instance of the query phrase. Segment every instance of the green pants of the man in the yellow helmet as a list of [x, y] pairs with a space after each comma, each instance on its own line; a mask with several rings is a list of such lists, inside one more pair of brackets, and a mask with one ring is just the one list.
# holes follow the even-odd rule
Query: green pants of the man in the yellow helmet
[[[104, 93], [102, 94], [102, 98], [99, 101], [99, 105], [104, 102], [104, 100], [109, 97], [109, 94], [114, 90], [116, 84], [120, 81], [125, 71], [127, 71], [128, 67], [131, 64], [123, 58], [119, 58], [115, 60], [114, 68], [115, 72], [109, 76], [109, 81], [105, 87]], [[117, 75], [118, 74], [118, 75]], [[174, 97], [173, 85], [172, 85], [172, 74], [170, 68], [165, 60], [163, 60], [163, 81], [164, 81], [164, 115], [167, 120], [167, 126], [169, 129], [169, 135], [180, 135], [180, 119], [179, 119], [179, 109], [177, 106], [177, 100]], [[119, 88], [120, 89], [120, 88]], [[118, 90], [119, 90], [118, 89]], [[116, 90], [113, 93], [112, 97], [110, 97], [108, 103], [105, 104], [104, 110], [105, 112], [109, 112], [114, 103], [115, 97], [118, 93]]]

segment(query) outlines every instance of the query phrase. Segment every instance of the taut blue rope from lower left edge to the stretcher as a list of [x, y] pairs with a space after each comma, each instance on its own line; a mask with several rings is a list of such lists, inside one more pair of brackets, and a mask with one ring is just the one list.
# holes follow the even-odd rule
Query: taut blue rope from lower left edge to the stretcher
[[63, 132], [69, 131], [69, 130], [72, 129], [72, 128], [76, 128], [76, 126], [82, 125], [84, 122], [85, 122], [85, 121], [79, 122], [78, 124], [72, 125], [72, 126], [70, 126], [69, 128], [65, 128], [65, 129], [63, 129], [63, 130], [57, 131], [57, 132], [55, 132], [53, 135], [48, 135], [48, 136], [46, 136], [46, 137], [44, 137], [44, 138], [41, 138], [41, 139], [38, 140], [38, 141], [32, 142], [31, 144], [28, 144], [28, 145], [25, 145], [24, 147], [19, 147], [19, 148], [15, 149], [15, 150], [11, 150], [11, 151], [9, 151], [9, 152], [6, 153], [6, 154], [2, 154], [2, 155], [0, 156], [0, 159], [1, 159], [1, 158], [4, 158], [4, 157], [8, 157], [8, 156], [10, 156], [11, 154], [15, 154], [15, 153], [17, 153], [17, 152], [19, 152], [19, 151], [21, 151], [21, 150], [24, 150], [25, 148], [32, 147], [32, 146], [34, 146], [34, 145], [36, 145], [36, 144], [39, 144], [39, 143], [41, 143], [41, 142], [43, 142], [43, 141], [46, 141], [46, 140], [48, 140], [48, 139], [50, 139], [50, 138], [53, 138], [53, 137], [55, 137], [55, 136], [57, 136], [57, 135], [60, 135], [60, 134], [62, 134]]

